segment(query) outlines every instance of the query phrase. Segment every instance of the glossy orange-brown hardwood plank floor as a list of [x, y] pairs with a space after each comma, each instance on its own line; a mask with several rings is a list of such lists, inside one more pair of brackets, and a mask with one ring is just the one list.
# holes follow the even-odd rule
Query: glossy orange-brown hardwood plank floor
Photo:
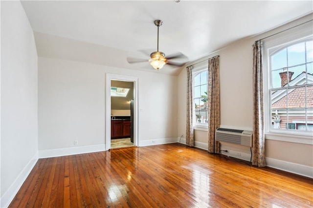
[[181, 144], [40, 159], [11, 208], [313, 207], [313, 179]]

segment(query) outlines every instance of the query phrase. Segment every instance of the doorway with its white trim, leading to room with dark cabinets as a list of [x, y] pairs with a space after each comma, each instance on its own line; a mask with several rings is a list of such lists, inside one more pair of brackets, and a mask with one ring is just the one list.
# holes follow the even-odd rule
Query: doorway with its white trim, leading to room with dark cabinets
[[[138, 81], [136, 77], [115, 74], [106, 76], [106, 150], [139, 146]], [[116, 96], [119, 93], [127, 95]]]

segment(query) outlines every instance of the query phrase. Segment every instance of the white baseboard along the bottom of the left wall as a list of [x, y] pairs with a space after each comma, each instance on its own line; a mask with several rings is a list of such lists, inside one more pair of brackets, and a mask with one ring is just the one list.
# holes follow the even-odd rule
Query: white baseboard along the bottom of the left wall
[[18, 175], [18, 177], [15, 179], [15, 181], [12, 183], [12, 185], [5, 191], [5, 193], [2, 195], [0, 199], [0, 207], [1, 208], [7, 208], [12, 200], [14, 199], [17, 192], [22, 187], [24, 181], [26, 180], [27, 176], [29, 175], [30, 171], [33, 169], [33, 167], [36, 165], [38, 161], [38, 152], [30, 159], [28, 164], [22, 169], [21, 173]]

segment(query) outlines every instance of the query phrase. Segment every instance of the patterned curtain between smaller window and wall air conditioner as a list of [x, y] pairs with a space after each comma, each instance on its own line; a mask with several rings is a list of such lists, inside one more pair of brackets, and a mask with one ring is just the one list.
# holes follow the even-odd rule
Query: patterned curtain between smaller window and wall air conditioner
[[220, 153], [220, 143], [215, 141], [215, 130], [220, 127], [220, 62], [218, 56], [209, 59], [207, 98], [208, 152]]

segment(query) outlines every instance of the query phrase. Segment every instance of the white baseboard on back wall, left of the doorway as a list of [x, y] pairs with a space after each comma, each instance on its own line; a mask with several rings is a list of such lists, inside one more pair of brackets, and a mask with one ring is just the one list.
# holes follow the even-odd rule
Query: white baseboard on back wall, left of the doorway
[[78, 146], [60, 149], [39, 150], [39, 158], [60, 157], [66, 155], [84, 154], [90, 152], [105, 151], [106, 145]]

